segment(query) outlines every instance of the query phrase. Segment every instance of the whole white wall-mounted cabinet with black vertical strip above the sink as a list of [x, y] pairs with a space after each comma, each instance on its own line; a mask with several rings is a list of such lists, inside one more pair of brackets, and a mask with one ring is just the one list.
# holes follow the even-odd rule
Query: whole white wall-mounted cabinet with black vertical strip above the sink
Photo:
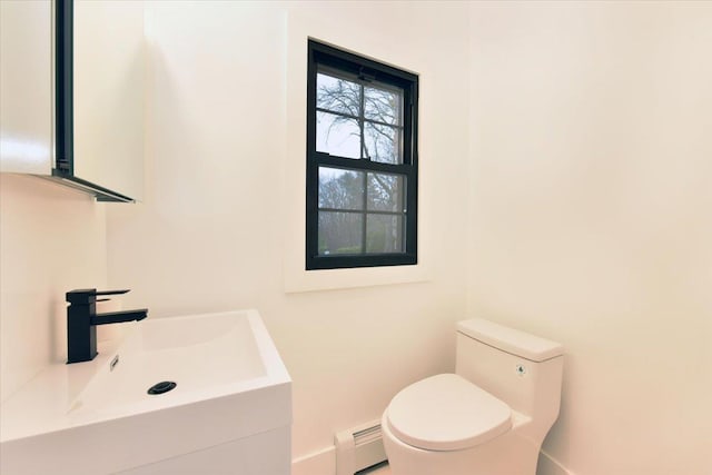
[[142, 199], [141, 1], [0, 1], [0, 171]]

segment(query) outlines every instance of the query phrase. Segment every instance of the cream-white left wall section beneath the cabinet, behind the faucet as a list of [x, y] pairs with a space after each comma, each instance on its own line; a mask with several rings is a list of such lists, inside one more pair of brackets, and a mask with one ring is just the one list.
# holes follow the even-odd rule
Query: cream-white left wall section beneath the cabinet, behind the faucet
[[67, 359], [65, 294], [106, 284], [102, 205], [34, 177], [0, 175], [0, 400]]

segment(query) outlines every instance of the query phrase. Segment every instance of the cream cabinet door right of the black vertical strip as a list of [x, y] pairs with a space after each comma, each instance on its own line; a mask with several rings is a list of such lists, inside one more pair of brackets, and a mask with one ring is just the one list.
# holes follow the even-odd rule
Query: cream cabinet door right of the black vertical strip
[[142, 1], [73, 0], [75, 176], [140, 200]]

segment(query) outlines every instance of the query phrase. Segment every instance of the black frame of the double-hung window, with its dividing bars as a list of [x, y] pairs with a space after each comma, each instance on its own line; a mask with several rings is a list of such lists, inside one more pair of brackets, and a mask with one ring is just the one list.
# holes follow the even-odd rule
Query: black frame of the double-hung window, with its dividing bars
[[[318, 68], [340, 71], [358, 81], [377, 81], [403, 91], [403, 162], [386, 164], [367, 158], [354, 159], [317, 151], [317, 72]], [[349, 79], [350, 80], [350, 79]], [[362, 111], [362, 115], [364, 112]], [[405, 266], [417, 264], [418, 195], [418, 77], [408, 71], [308, 40], [307, 63], [307, 179], [306, 179], [306, 270], [356, 267]], [[363, 138], [362, 138], [363, 142]], [[319, 167], [404, 176], [405, 232], [404, 251], [377, 254], [318, 253]], [[362, 211], [367, 214], [366, 210]]]

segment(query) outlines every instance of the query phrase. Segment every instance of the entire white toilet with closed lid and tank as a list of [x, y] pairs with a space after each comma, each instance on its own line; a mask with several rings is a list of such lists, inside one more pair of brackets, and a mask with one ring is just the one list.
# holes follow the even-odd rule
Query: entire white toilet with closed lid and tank
[[561, 344], [457, 323], [454, 374], [402, 389], [383, 414], [392, 475], [534, 475], [561, 403]]

